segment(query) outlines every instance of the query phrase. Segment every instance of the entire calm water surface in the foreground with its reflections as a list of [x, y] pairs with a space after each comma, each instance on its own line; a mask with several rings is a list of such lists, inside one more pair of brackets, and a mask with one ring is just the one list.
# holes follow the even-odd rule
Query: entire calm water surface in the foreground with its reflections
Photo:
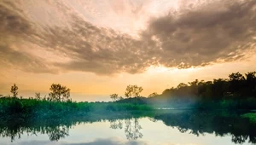
[[161, 113], [35, 125], [16, 120], [4, 124], [0, 126], [1, 145], [229, 145], [256, 141], [254, 124], [227, 113]]

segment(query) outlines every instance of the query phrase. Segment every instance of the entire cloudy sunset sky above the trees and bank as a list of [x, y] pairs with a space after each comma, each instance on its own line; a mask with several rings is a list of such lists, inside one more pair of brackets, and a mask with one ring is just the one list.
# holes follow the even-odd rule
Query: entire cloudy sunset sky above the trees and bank
[[0, 94], [108, 101], [256, 71], [255, 0], [0, 0]]

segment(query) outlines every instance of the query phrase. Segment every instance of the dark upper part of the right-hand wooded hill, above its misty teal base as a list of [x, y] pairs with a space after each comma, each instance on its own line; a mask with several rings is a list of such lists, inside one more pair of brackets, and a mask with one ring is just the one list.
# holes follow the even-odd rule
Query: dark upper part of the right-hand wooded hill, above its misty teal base
[[256, 97], [256, 72], [245, 75], [231, 73], [229, 78], [218, 78], [213, 81], [195, 79], [188, 84], [180, 83], [176, 88], [166, 89], [160, 96], [210, 100]]

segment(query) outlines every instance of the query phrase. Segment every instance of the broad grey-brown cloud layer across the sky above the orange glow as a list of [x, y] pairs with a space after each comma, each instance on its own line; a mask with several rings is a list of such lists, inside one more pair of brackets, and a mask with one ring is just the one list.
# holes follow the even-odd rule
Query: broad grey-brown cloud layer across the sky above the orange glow
[[[129, 15], [144, 14], [148, 2], [131, 4]], [[86, 9], [70, 1], [2, 1], [0, 64], [33, 73], [142, 73], [156, 65], [187, 68], [237, 61], [255, 50], [255, 0], [177, 3], [168, 14], [148, 17], [135, 38], [97, 26]], [[124, 4], [110, 5], [124, 14], [119, 8]], [[94, 7], [87, 9], [97, 14]]]

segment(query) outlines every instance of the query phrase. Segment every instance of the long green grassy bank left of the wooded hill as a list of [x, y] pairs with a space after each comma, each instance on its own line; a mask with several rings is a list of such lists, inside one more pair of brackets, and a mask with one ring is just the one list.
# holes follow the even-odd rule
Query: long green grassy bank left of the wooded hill
[[0, 98], [0, 118], [17, 116], [20, 119], [57, 119], [84, 116], [89, 113], [109, 114], [150, 111], [145, 104], [117, 102], [49, 102], [16, 97]]

